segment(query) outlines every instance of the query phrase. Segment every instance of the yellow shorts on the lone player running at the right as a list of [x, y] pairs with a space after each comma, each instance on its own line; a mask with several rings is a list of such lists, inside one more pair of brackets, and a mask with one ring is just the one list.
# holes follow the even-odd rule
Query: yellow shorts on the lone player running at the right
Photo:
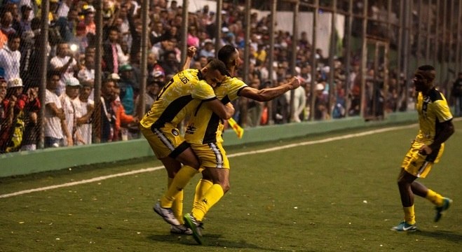
[[419, 150], [422, 145], [423, 143], [414, 141], [401, 164], [406, 172], [418, 178], [425, 178], [430, 173], [433, 164], [440, 161], [444, 151], [444, 144], [442, 144], [439, 150], [433, 151], [430, 155], [421, 155]]

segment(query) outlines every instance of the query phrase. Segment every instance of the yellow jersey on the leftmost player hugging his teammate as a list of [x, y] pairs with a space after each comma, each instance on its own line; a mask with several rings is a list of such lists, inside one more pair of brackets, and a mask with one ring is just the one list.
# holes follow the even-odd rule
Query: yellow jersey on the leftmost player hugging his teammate
[[156, 102], [140, 121], [142, 127], [161, 128], [165, 123], [175, 127], [188, 111], [195, 111], [201, 101], [217, 99], [211, 85], [198, 69], [186, 69], [175, 74], [162, 88]]

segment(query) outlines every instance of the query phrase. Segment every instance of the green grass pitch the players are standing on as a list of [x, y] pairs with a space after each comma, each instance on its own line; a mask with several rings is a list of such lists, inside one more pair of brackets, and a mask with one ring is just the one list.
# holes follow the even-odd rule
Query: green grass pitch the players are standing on
[[[417, 232], [390, 231], [403, 216], [396, 178], [414, 125], [229, 148], [231, 190], [210, 210], [203, 246], [170, 235], [152, 211], [167, 183], [157, 160], [0, 179], [6, 195], [159, 167], [0, 196], [0, 251], [462, 251], [462, 122], [454, 124], [442, 161], [420, 180], [454, 204], [434, 223], [433, 205], [416, 198]], [[249, 153], [287, 144], [292, 147]], [[185, 190], [184, 212], [198, 179]]]

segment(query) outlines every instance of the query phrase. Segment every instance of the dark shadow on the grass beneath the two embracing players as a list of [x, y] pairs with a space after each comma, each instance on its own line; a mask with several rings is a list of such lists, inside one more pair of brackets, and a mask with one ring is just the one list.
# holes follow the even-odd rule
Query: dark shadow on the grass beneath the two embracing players
[[219, 247], [219, 248], [254, 248], [261, 251], [286, 251], [278, 250], [275, 248], [262, 248], [255, 244], [249, 244], [246, 241], [229, 241], [220, 239], [221, 235], [204, 235], [203, 244], [199, 245], [194, 241], [193, 237], [189, 235], [149, 235], [147, 238], [152, 241], [167, 242], [170, 244], [179, 243], [183, 245], [204, 246], [204, 247]]

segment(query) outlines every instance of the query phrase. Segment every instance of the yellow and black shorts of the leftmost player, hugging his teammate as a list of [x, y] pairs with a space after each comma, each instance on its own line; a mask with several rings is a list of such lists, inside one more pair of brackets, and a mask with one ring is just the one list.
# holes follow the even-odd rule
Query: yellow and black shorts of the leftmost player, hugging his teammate
[[140, 128], [158, 159], [168, 156], [177, 158], [177, 155], [189, 148], [189, 144], [184, 141], [184, 137], [179, 134], [179, 130], [173, 125], [165, 124], [161, 128]]

